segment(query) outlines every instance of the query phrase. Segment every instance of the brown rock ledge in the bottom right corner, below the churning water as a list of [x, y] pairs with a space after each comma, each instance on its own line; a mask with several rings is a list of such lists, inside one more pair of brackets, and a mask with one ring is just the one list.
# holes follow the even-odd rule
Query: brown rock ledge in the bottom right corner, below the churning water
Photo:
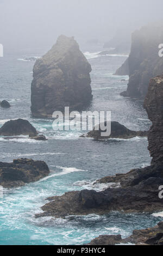
[[117, 245], [132, 243], [134, 245], [163, 245], [163, 222], [153, 228], [134, 230], [126, 239], [121, 235], [101, 235], [93, 239], [88, 245]]

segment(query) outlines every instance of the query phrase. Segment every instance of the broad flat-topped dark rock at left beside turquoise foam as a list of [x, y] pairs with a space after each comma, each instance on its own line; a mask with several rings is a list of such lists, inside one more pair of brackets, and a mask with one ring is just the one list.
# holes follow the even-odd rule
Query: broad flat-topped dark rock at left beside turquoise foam
[[12, 163], [0, 162], [0, 185], [19, 187], [26, 183], [42, 179], [49, 174], [49, 168], [43, 161], [17, 159]]

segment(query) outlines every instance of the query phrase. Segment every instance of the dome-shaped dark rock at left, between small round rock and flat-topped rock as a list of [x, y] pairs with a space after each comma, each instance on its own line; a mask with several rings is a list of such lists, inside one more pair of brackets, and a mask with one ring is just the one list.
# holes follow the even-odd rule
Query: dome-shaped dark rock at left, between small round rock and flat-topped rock
[[37, 135], [29, 121], [24, 119], [10, 120], [0, 128], [0, 136]]

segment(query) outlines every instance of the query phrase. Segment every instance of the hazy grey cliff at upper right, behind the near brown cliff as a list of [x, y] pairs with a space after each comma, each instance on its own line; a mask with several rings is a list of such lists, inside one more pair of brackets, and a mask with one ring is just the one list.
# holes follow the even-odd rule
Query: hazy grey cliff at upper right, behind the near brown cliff
[[[128, 58], [129, 83], [127, 92], [121, 95], [145, 99], [149, 80], [162, 74], [163, 58], [159, 57], [159, 44], [163, 42], [161, 26], [142, 27], [132, 35], [131, 52]], [[125, 65], [123, 65], [125, 66]], [[116, 74], [121, 74], [123, 66]]]

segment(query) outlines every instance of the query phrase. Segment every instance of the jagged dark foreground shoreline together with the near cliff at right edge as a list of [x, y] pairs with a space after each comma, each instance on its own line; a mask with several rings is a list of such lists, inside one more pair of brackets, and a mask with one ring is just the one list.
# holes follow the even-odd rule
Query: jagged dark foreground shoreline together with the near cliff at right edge
[[[156, 90], [156, 93], [153, 93]], [[153, 78], [149, 84], [145, 100], [148, 117], [153, 125], [149, 131], [149, 148], [155, 140], [155, 131], [162, 131], [162, 91], [163, 77]], [[152, 102], [152, 103], [151, 103]], [[162, 133], [159, 133], [162, 138]], [[163, 200], [159, 198], [159, 186], [163, 184], [162, 140], [154, 151], [150, 151], [151, 166], [131, 170], [127, 174], [117, 174], [97, 182], [114, 182], [120, 187], [105, 191], [72, 191], [62, 196], [48, 198], [42, 206], [43, 213], [36, 217], [54, 216], [65, 218], [68, 215], [108, 214], [110, 211], [155, 212], [162, 210]]]

